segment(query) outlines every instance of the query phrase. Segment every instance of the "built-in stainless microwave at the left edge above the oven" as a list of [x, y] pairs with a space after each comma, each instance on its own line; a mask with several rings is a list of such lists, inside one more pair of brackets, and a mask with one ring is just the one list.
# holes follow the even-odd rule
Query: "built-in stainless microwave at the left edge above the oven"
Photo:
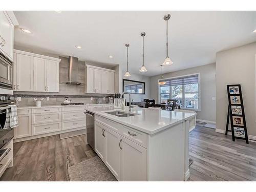
[[12, 89], [12, 61], [0, 52], [0, 88]]

